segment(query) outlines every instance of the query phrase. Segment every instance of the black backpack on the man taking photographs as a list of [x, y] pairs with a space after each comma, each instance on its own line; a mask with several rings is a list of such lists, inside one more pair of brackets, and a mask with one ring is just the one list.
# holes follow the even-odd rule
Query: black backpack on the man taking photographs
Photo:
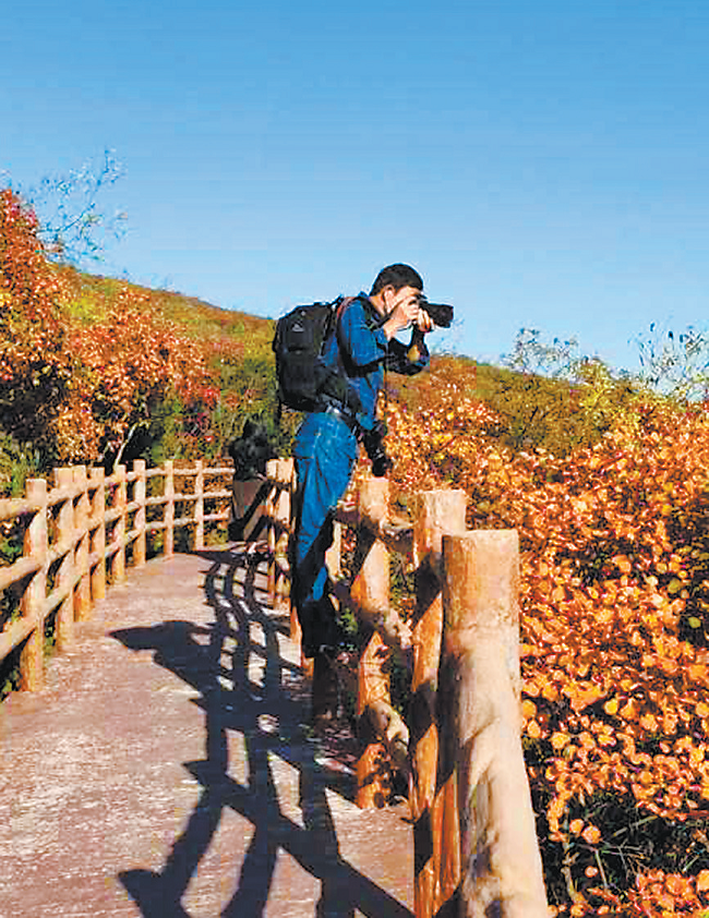
[[296, 306], [276, 323], [273, 349], [281, 404], [313, 411], [323, 395], [339, 402], [347, 402], [349, 395], [351, 403], [345, 375], [327, 369], [322, 361], [325, 342], [335, 334], [338, 312], [348, 302], [351, 298], [338, 297], [332, 303]]

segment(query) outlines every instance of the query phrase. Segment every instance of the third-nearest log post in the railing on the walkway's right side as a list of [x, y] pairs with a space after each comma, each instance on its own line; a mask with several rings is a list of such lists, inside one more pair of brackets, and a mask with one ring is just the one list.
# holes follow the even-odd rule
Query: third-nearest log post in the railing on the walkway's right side
[[[359, 515], [372, 521], [388, 517], [389, 483], [386, 479], [364, 479], [359, 493]], [[389, 608], [389, 552], [366, 527], [360, 523], [354, 552], [361, 567], [351, 585], [354, 602], [373, 617]], [[368, 708], [377, 701], [390, 704], [390, 650], [374, 631], [359, 662], [357, 715], [364, 747], [357, 763], [357, 805], [363, 809], [385, 806], [392, 796], [392, 761], [384, 745], [375, 737]]]

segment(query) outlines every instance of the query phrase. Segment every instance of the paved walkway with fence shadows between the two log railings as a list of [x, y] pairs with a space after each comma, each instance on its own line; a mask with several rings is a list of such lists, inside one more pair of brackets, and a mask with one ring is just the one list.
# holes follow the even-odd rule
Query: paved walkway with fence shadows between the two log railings
[[263, 585], [236, 549], [151, 561], [2, 705], [1, 918], [411, 918], [406, 810], [309, 739]]

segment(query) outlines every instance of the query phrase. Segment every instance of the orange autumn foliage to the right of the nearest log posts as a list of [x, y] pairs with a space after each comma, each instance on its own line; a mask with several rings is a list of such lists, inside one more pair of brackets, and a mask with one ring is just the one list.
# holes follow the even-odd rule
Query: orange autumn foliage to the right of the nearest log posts
[[[389, 400], [399, 500], [469, 495], [521, 545], [524, 742], [558, 915], [709, 906], [709, 419], [638, 395], [593, 447], [500, 445], [455, 361]], [[683, 874], [683, 875], [681, 875]]]

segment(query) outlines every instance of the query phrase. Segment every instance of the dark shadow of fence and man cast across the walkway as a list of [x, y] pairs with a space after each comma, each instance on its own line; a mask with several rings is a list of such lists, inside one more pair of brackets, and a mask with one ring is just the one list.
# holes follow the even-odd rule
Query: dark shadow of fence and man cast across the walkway
[[[200, 799], [164, 868], [128, 870], [119, 880], [143, 918], [192, 918], [181, 901], [230, 808], [254, 831], [242, 862], [235, 862], [236, 892], [221, 918], [264, 915], [279, 848], [320, 881], [320, 901], [312, 913], [319, 918], [353, 918], [357, 909], [372, 918], [411, 918], [408, 908], [339, 855], [325, 792], [329, 788], [351, 800], [354, 778], [326, 768], [317, 745], [308, 738], [303, 723], [308, 697], [300, 667], [279, 650], [279, 635], [288, 633], [289, 621], [259, 602], [259, 556], [230, 551], [196, 554], [212, 563], [204, 581], [205, 600], [215, 613], [211, 625], [165, 621], [112, 632], [131, 650], [154, 651], [157, 665], [200, 692], [194, 701], [204, 710], [206, 730], [204, 759], [184, 763], [201, 785]], [[254, 668], [260, 671], [260, 684], [251, 679]], [[228, 773], [229, 730], [243, 736], [244, 784]], [[304, 828], [281, 812], [269, 757], [284, 759], [299, 772]], [[225, 879], [218, 878], [223, 889]]]

